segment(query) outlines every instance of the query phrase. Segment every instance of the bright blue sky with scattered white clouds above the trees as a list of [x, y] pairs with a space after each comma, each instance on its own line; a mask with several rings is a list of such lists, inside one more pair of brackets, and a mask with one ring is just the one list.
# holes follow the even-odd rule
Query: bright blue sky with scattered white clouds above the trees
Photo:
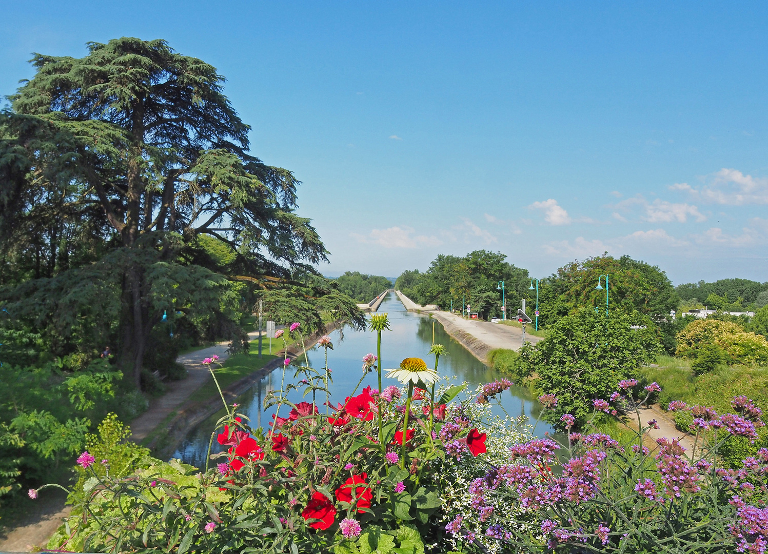
[[765, 2], [5, 2], [30, 53], [166, 38], [217, 66], [252, 150], [303, 181], [326, 274], [500, 250], [544, 277], [630, 254], [768, 280]]

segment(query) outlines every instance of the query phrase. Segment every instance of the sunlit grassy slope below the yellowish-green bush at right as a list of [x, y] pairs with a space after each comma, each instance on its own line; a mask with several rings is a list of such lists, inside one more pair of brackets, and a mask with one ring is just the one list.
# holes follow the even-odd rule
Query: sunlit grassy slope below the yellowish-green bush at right
[[659, 366], [641, 368], [641, 374], [661, 386], [659, 403], [664, 409], [671, 400], [683, 400], [713, 406], [717, 413], [733, 413], [730, 401], [743, 394], [768, 414], [768, 368], [721, 366], [696, 377], [687, 360], [660, 357]]

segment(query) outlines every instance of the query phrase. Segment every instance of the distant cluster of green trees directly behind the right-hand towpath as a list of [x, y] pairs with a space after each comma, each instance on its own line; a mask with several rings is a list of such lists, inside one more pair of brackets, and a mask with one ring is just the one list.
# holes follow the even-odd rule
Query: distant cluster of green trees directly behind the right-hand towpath
[[523, 298], [535, 298], [535, 293], [531, 297], [528, 290], [528, 270], [505, 259], [505, 254], [487, 250], [475, 250], [465, 257], [440, 254], [424, 273], [406, 271], [395, 286], [416, 304], [437, 304], [449, 310], [452, 303], [455, 309], [461, 309], [465, 300], [482, 319], [501, 317], [502, 291], [497, 288], [498, 281], [504, 281], [507, 306], [518, 306]]

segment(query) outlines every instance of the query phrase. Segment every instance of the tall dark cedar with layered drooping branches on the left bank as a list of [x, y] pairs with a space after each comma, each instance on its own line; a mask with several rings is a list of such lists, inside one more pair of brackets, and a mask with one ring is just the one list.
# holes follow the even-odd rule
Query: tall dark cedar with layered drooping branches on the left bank
[[118, 272], [118, 353], [138, 384], [164, 311], [218, 282], [202, 269], [179, 274], [178, 256], [196, 237], [229, 244], [233, 273], [250, 280], [311, 271], [306, 264], [326, 250], [295, 213], [293, 174], [249, 154], [250, 127], [216, 68], [163, 40], [88, 50], [35, 55], [34, 78], [10, 97], [0, 131], [0, 271], [9, 284], [51, 277], [74, 256]]

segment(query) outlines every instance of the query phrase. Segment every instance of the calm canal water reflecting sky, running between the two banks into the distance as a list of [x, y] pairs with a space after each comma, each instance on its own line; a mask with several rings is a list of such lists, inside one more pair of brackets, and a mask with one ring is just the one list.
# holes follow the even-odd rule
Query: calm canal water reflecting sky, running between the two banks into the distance
[[[488, 381], [501, 377], [495, 370], [478, 361], [472, 353], [452, 339], [448, 333], [445, 333], [442, 323], [421, 313], [406, 311], [396, 294], [387, 295], [379, 307], [379, 313], [382, 312], [389, 313], [389, 325], [392, 327], [392, 330], [382, 333], [382, 360], [379, 361], [384, 369], [399, 367], [400, 361], [407, 357], [422, 358], [428, 367], [433, 367], [435, 357], [429, 355], [428, 352], [429, 347], [432, 346], [432, 333], [434, 333], [435, 343], [444, 344], [448, 347], [448, 355], [440, 357], [438, 372], [441, 377], [455, 377], [456, 379], [452, 380], [454, 384], [466, 381], [469, 383], [467, 387], [469, 394], [475, 390], [478, 384], [488, 383]], [[367, 353], [376, 353], [376, 333], [367, 330], [353, 331], [349, 327], [345, 327], [333, 331], [330, 337], [333, 342], [333, 350], [328, 350], [328, 367], [332, 370], [331, 377], [333, 378], [333, 384], [329, 387], [332, 393], [330, 400], [336, 405], [343, 403], [346, 396], [352, 393], [355, 385], [362, 377], [362, 357]], [[313, 347], [307, 351], [307, 355], [310, 360], [310, 367], [317, 370], [325, 367], [322, 347]], [[300, 356], [296, 363], [303, 365], [304, 357]], [[289, 367], [286, 371], [286, 383], [293, 379], [293, 372], [293, 367]], [[282, 367], [274, 370], [237, 399], [237, 403], [240, 404], [237, 408], [238, 412], [244, 413], [250, 418], [251, 426], [263, 426], [266, 429], [272, 420], [275, 408], [273, 406], [264, 411], [262, 409], [263, 397], [266, 390], [280, 388], [282, 373]], [[399, 384], [394, 379], [386, 379], [382, 376], [382, 387], [399, 386]], [[377, 388], [376, 372], [368, 373], [360, 385], [358, 393], [368, 385], [374, 389]], [[294, 390], [291, 391], [289, 400], [294, 403], [302, 400], [311, 402], [312, 398], [310, 395], [302, 398], [300, 393]], [[324, 407], [321, 406], [323, 402], [325, 402], [325, 393], [319, 393], [317, 404], [320, 410], [324, 410]], [[502, 405], [509, 415], [528, 416], [531, 418], [531, 422], [538, 418], [541, 408], [528, 389], [516, 385], [512, 386], [511, 390], [502, 393]], [[289, 411], [286, 406], [283, 406], [280, 410], [280, 416], [286, 417]], [[494, 406], [494, 411], [498, 412], [499, 415], [504, 415], [498, 406]], [[222, 408], [220, 412], [210, 416], [191, 430], [171, 457], [180, 458], [197, 467], [204, 466], [210, 433], [216, 422], [225, 413]], [[536, 426], [535, 435], [544, 436], [545, 432], [552, 433], [553, 430], [551, 426], [540, 421]], [[214, 441], [214, 452], [218, 450], [220, 448]]]

